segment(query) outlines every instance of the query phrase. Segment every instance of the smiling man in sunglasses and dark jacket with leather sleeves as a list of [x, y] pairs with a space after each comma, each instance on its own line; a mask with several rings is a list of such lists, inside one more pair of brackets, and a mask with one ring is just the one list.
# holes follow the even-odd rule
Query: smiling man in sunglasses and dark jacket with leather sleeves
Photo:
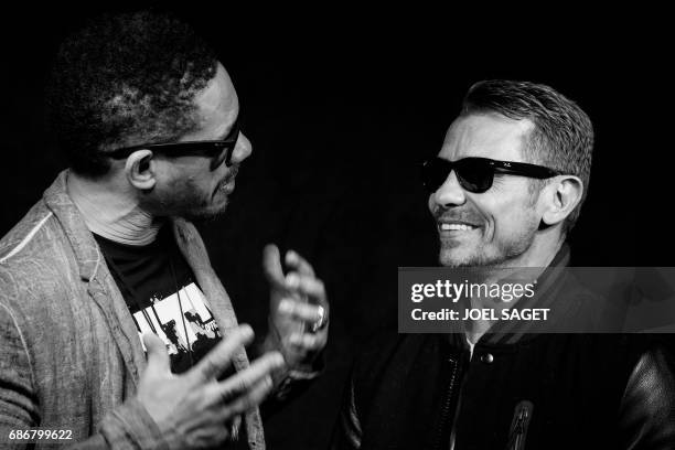
[[[586, 318], [593, 297], [564, 268], [592, 146], [588, 116], [548, 86], [472, 86], [422, 169], [440, 264], [471, 268], [482, 281], [533, 268], [542, 274], [533, 306]], [[658, 344], [536, 333], [491, 315], [465, 325], [369, 345], [354, 366], [333, 448], [673, 448], [675, 377]]]

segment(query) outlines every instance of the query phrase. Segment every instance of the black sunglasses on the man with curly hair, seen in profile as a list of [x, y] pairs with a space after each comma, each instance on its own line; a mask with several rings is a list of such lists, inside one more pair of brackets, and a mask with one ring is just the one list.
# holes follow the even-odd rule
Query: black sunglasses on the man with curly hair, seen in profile
[[223, 140], [203, 140], [167, 143], [142, 143], [140, 146], [125, 147], [107, 152], [113, 159], [125, 159], [137, 150], [148, 149], [171, 157], [186, 154], [203, 156], [211, 158], [211, 170], [215, 170], [223, 162], [226, 167], [232, 165], [232, 153], [239, 139], [239, 118], [234, 121], [227, 137]]

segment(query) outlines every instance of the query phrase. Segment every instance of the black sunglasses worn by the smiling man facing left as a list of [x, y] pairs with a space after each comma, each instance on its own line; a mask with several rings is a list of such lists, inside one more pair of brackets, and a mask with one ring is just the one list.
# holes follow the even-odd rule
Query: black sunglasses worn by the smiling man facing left
[[525, 162], [496, 161], [488, 158], [463, 158], [458, 161], [448, 161], [442, 158], [433, 158], [425, 162], [421, 168], [425, 189], [430, 193], [438, 191], [453, 170], [460, 185], [476, 194], [492, 188], [495, 173], [534, 179], [547, 179], [561, 174], [557, 170]]

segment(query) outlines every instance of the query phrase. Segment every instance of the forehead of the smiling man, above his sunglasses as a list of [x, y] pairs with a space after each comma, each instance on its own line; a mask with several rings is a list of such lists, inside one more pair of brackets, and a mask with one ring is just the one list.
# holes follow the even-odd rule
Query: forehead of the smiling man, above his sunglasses
[[529, 119], [514, 120], [496, 113], [459, 117], [448, 129], [439, 157], [523, 161], [521, 150], [533, 129]]

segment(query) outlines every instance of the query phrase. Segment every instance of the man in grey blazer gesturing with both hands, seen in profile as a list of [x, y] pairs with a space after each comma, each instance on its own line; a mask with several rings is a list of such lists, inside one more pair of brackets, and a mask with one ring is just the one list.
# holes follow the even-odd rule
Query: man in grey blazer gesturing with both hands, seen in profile
[[61, 46], [50, 103], [69, 169], [0, 240], [0, 447], [262, 449], [258, 405], [317, 375], [328, 303], [268, 246], [249, 364], [190, 222], [225, 212], [251, 153], [227, 72], [172, 17], [105, 15]]

